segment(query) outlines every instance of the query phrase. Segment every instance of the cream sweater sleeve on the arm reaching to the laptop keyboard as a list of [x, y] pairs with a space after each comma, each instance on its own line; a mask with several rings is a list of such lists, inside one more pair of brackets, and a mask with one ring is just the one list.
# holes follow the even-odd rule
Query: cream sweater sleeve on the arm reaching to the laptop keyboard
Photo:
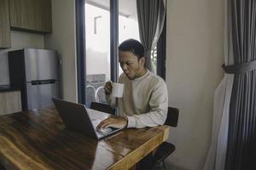
[[149, 99], [150, 111], [141, 115], [127, 116], [127, 127], [154, 127], [166, 122], [168, 93], [166, 82], [160, 81], [153, 89]]

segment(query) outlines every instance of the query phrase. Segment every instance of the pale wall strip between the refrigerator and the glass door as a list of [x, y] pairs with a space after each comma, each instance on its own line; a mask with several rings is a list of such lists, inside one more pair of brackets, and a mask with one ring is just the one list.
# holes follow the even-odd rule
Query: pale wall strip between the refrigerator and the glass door
[[44, 47], [56, 49], [62, 60], [63, 98], [77, 101], [75, 1], [52, 0], [53, 33], [45, 36]]

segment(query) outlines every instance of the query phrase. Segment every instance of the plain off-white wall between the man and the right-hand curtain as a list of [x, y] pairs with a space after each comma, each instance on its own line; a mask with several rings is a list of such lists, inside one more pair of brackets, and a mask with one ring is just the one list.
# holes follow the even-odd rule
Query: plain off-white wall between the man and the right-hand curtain
[[223, 1], [168, 1], [166, 41], [169, 105], [180, 110], [169, 138], [176, 151], [168, 162], [200, 170], [211, 140], [213, 93], [223, 76]]

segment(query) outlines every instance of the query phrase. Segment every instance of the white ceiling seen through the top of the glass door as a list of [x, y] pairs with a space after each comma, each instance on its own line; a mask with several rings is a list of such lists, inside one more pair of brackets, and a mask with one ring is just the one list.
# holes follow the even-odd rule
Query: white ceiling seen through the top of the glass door
[[[86, 3], [90, 3], [99, 8], [104, 8], [109, 10], [109, 0], [86, 0]], [[119, 14], [130, 17], [137, 18], [137, 5], [136, 0], [119, 0]]]

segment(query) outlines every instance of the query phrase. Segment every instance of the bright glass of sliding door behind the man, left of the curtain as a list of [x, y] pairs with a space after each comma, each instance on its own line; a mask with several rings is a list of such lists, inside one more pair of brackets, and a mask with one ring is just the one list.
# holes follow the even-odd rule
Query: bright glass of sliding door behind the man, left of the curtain
[[116, 81], [113, 77], [122, 73], [118, 66], [118, 44], [128, 38], [139, 40], [136, 0], [86, 0], [84, 14], [85, 101], [90, 106], [91, 101], [106, 102], [105, 82]]

